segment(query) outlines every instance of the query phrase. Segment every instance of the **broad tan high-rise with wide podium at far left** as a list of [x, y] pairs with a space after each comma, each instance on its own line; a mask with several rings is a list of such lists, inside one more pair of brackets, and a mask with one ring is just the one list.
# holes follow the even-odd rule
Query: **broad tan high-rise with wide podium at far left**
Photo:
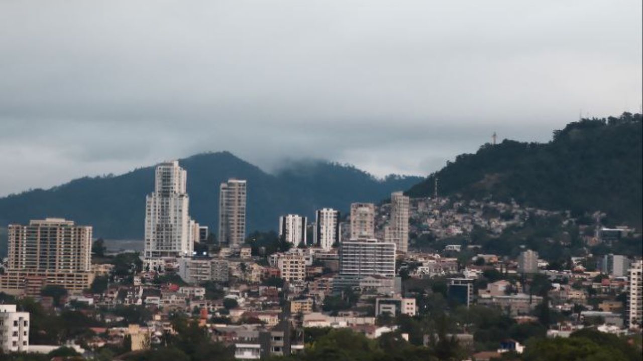
[[[8, 262], [0, 291], [24, 295], [34, 285], [63, 286], [78, 293], [89, 288], [92, 227], [62, 218], [32, 220], [8, 227]], [[37, 282], [35, 282], [37, 280]]]

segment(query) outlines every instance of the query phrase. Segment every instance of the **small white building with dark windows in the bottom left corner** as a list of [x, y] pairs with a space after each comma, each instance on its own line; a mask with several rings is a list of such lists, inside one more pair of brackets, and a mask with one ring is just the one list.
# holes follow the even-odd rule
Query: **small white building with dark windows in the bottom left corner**
[[15, 304], [0, 304], [0, 349], [29, 350], [29, 312], [17, 312]]

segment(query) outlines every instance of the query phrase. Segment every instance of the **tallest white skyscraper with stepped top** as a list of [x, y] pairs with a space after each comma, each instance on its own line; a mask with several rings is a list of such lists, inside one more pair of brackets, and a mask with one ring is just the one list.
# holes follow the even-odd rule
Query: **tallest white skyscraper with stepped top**
[[178, 161], [156, 166], [154, 192], [145, 209], [145, 257], [181, 257], [194, 250], [194, 222], [190, 220], [187, 172]]

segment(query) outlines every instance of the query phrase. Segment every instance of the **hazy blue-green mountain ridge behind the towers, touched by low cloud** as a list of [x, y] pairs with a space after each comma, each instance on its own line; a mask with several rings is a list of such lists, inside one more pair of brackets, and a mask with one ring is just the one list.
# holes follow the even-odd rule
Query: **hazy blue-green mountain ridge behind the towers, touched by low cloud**
[[[422, 179], [380, 180], [352, 166], [324, 161], [292, 163], [273, 175], [228, 152], [198, 154], [180, 159], [179, 164], [188, 172], [190, 215], [213, 230], [219, 219], [219, 184], [231, 177], [248, 180], [248, 232], [276, 229], [278, 216], [285, 213], [314, 217], [320, 207], [346, 211], [351, 202], [377, 202]], [[96, 237], [140, 239], [145, 195], [153, 189], [153, 166], [34, 189], [0, 198], [0, 226], [58, 216], [93, 225]]]

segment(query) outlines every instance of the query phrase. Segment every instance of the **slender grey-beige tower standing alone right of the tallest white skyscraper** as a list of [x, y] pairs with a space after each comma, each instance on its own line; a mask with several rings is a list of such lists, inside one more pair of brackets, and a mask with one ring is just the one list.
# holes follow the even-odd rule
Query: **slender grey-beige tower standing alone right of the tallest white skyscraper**
[[219, 188], [219, 243], [240, 247], [246, 240], [246, 180], [228, 179]]

